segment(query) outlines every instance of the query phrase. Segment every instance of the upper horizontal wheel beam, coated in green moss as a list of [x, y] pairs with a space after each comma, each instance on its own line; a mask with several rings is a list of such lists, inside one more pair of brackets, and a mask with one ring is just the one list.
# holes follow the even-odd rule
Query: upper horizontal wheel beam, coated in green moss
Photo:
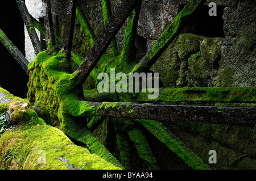
[[[96, 92], [84, 98], [90, 102], [120, 102], [125, 100], [129, 92], [124, 94]], [[89, 91], [88, 91], [89, 92]], [[191, 102], [191, 103], [256, 103], [256, 87], [183, 87], [162, 88], [156, 99], [148, 99], [149, 93], [130, 94], [134, 102]]]

